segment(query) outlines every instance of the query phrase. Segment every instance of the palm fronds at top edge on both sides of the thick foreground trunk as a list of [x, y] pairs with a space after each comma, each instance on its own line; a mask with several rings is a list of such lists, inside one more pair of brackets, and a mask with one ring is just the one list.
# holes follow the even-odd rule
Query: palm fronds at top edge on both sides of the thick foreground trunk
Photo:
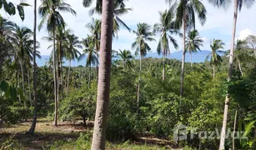
[[[124, 28], [127, 28], [130, 32], [131, 29], [128, 28], [128, 25], [123, 23], [123, 21], [119, 18], [123, 14], [128, 13], [128, 11], [131, 11], [131, 8], [126, 8], [125, 3], [128, 0], [113, 0], [113, 36], [116, 36], [118, 34], [118, 31], [120, 29], [120, 25]], [[93, 3], [93, 0], [83, 0], [83, 6], [84, 7], [90, 7]], [[96, 6], [93, 7], [89, 13], [90, 15], [93, 15], [93, 13], [102, 14], [102, 7], [103, 7], [103, 0], [97, 0]]]

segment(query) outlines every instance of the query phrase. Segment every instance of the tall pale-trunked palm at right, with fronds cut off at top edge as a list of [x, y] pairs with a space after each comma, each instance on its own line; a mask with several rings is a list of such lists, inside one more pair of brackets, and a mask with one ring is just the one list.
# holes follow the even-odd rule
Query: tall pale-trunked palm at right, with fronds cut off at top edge
[[[247, 7], [251, 7], [253, 5], [254, 0], [208, 0], [209, 2], [213, 3], [214, 6], [217, 7], [227, 7], [233, 2], [233, 28], [232, 28], [232, 37], [231, 37], [231, 47], [230, 47], [230, 54], [229, 54], [229, 62], [228, 62], [228, 82], [232, 79], [232, 70], [233, 70], [233, 51], [234, 51], [234, 40], [235, 40], [235, 33], [236, 33], [236, 26], [237, 26], [237, 19], [238, 19], [238, 10], [241, 11], [243, 5], [245, 4]], [[219, 150], [224, 149], [225, 144], [225, 135], [226, 135], [226, 128], [227, 128], [227, 121], [228, 121], [228, 103], [229, 103], [230, 95], [227, 92], [225, 98], [225, 107], [223, 113], [223, 127], [220, 136], [220, 143], [219, 143]]]

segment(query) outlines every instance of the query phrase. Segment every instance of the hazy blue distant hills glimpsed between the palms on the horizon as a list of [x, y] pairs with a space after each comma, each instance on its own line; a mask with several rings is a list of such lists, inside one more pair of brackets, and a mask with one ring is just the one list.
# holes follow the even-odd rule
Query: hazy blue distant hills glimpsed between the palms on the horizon
[[[177, 52], [172, 52], [170, 53], [167, 58], [173, 58], [173, 59], [178, 59], [181, 60], [182, 59], [182, 51], [177, 51]], [[197, 52], [197, 53], [193, 53], [192, 54], [192, 61], [193, 62], [204, 62], [205, 57], [210, 53], [210, 51], [207, 50], [202, 50], [201, 52]], [[146, 57], [155, 57], [155, 58], [162, 58], [162, 55], [158, 55], [158, 52], [148, 52]], [[139, 57], [135, 57], [136, 59], [138, 59]], [[37, 59], [37, 63], [38, 66], [43, 66], [46, 64], [46, 62], [48, 62], [49, 60], [49, 56], [43, 55], [41, 59]], [[68, 61], [63, 61], [64, 62], [64, 66], [68, 66]], [[186, 62], [190, 62], [190, 55], [189, 53], [186, 53]], [[73, 61], [72, 62], [72, 66], [78, 66], [78, 65], [85, 65], [86, 64], [86, 57], [78, 62], [78, 61]]]

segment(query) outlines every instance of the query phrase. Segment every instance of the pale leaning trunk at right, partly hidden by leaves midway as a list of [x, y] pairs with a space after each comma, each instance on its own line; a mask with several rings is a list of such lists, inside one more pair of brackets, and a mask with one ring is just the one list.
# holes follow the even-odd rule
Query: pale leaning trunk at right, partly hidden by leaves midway
[[[234, 0], [233, 3], [234, 3], [234, 5], [233, 5], [234, 6], [233, 29], [232, 29], [232, 40], [231, 40], [231, 48], [230, 48], [230, 55], [229, 55], [229, 63], [228, 63], [228, 82], [230, 82], [231, 78], [232, 78], [234, 38], [235, 38], [236, 24], [237, 24], [237, 18], [238, 18], [238, 0]], [[227, 121], [228, 121], [229, 97], [230, 97], [230, 95], [227, 92], [226, 99], [225, 99], [225, 107], [224, 107], [224, 114], [223, 114], [223, 127], [222, 127], [222, 131], [221, 131], [219, 150], [223, 150], [225, 148], [224, 144], [225, 144]]]

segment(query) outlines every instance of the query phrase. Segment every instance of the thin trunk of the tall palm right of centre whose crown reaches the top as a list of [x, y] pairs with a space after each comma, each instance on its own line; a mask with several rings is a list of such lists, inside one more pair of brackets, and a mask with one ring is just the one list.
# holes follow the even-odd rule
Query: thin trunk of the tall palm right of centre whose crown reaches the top
[[181, 82], [180, 82], [180, 96], [183, 97], [183, 83], [184, 83], [184, 64], [185, 64], [185, 54], [186, 54], [186, 17], [183, 18], [183, 58], [181, 65]]

